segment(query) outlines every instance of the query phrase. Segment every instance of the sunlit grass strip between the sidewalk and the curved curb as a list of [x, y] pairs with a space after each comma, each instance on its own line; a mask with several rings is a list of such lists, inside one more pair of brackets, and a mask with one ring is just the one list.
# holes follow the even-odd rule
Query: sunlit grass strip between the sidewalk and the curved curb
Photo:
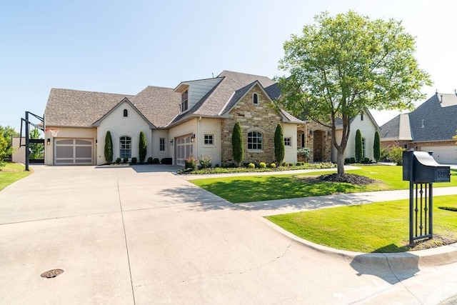
[[[433, 233], [457, 240], [457, 195], [433, 197]], [[359, 252], [408, 251], [409, 201], [341, 206], [266, 217], [315, 244]]]

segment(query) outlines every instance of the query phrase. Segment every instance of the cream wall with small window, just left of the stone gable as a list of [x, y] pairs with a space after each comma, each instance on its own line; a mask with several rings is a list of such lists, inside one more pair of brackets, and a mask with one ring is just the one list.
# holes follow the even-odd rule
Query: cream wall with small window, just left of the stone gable
[[[202, 118], [197, 120], [197, 128], [199, 129], [196, 134], [197, 151], [194, 151], [196, 157], [200, 158], [201, 155], [209, 155], [211, 156], [212, 166], [221, 165], [221, 119]], [[213, 135], [213, 145], [205, 144], [205, 134]]]

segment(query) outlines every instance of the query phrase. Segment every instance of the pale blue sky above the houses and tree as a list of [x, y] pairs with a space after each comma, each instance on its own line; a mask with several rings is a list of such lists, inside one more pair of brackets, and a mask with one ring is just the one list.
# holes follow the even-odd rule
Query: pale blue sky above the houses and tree
[[[42, 115], [51, 88], [136, 94], [223, 70], [283, 75], [283, 42], [321, 11], [348, 9], [403, 21], [433, 80], [424, 94], [457, 89], [454, 1], [3, 0], [0, 125]], [[381, 125], [397, 112], [373, 114]]]

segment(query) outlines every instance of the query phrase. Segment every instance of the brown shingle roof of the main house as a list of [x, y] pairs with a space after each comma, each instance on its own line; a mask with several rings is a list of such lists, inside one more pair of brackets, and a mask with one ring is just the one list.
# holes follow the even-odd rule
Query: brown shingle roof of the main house
[[[222, 71], [218, 77], [222, 78], [219, 84], [214, 86], [192, 109], [181, 115], [179, 115], [181, 94], [171, 88], [147, 86], [135, 96], [51, 89], [44, 111], [46, 125], [91, 127], [119, 104], [122, 99], [127, 98], [151, 124], [161, 128], [190, 116], [220, 117], [221, 111], [233, 97], [233, 94], [256, 81], [266, 89], [266, 93], [272, 100], [280, 94], [276, 83], [266, 76]], [[283, 117], [288, 121], [295, 121], [296, 118], [284, 112]]]

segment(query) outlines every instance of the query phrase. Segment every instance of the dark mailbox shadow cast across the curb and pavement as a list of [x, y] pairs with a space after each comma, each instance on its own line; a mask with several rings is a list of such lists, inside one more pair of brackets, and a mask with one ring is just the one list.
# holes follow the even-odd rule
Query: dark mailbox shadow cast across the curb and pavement
[[380, 253], [383, 251], [404, 251], [403, 247], [395, 244], [376, 249], [373, 253], [360, 254], [351, 261], [351, 267], [356, 270], [358, 276], [378, 276], [389, 284], [397, 284], [409, 279], [418, 273], [419, 257], [408, 253]]

